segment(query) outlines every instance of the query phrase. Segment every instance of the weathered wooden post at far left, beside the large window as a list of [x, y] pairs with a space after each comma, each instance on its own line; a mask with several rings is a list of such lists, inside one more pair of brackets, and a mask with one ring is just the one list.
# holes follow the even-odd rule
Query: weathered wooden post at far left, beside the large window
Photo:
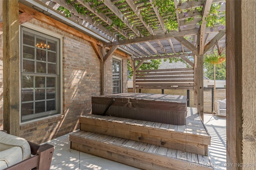
[[3, 1], [4, 130], [20, 134], [20, 57], [18, 0]]

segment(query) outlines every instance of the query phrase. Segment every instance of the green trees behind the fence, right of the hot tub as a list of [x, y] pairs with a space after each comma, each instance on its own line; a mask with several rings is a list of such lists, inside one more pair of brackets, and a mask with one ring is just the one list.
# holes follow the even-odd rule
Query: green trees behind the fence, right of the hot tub
[[[215, 66], [216, 80], [226, 80], [226, 61]], [[214, 65], [204, 62], [204, 75], [214, 80]]]

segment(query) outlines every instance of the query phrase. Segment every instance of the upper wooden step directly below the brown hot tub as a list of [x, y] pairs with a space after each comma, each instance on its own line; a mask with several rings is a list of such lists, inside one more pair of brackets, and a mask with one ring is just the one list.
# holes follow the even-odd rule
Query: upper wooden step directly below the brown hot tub
[[191, 120], [191, 123], [187, 117], [187, 125], [169, 125], [91, 114], [80, 117], [79, 121], [80, 130], [83, 131], [207, 155], [210, 135], [202, 125], [198, 114], [194, 115], [193, 109], [190, 109], [188, 115], [194, 120]]

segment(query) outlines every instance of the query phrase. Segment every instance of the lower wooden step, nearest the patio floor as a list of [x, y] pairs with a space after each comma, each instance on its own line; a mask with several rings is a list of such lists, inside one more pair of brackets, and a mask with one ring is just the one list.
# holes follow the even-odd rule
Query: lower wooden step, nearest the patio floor
[[213, 170], [208, 156], [87, 131], [70, 134], [71, 149], [142, 170]]

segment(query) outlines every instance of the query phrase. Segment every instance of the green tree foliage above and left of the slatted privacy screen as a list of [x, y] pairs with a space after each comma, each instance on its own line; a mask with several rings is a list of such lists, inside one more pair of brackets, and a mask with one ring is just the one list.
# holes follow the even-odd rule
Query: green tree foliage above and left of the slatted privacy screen
[[[128, 78], [132, 78], [132, 74], [133, 74], [132, 67], [131, 67], [130, 61], [129, 60], [127, 61], [128, 61], [127, 62]], [[140, 61], [136, 61], [136, 65], [139, 63]], [[161, 64], [161, 59], [150, 60], [148, 62], [144, 62], [143, 64], [141, 64], [138, 70], [157, 70], [160, 64]]]

